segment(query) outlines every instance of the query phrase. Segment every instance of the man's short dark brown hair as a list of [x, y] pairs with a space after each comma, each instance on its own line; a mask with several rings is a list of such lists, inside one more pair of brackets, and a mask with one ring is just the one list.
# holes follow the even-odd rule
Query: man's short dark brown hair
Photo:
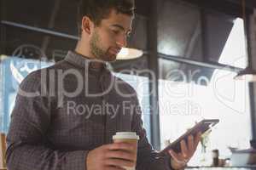
[[100, 26], [101, 21], [108, 18], [111, 9], [115, 9], [118, 14], [133, 16], [135, 2], [134, 0], [80, 0], [78, 8], [79, 34], [84, 16], [88, 16], [96, 26]]

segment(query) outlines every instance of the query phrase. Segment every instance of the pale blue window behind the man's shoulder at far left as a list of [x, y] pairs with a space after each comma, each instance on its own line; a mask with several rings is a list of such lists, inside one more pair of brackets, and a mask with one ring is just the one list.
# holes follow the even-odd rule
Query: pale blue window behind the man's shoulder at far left
[[15, 98], [20, 82], [32, 71], [52, 65], [51, 62], [42, 62], [35, 59], [20, 59], [1, 55], [0, 59], [0, 132], [7, 133], [10, 114], [15, 106]]

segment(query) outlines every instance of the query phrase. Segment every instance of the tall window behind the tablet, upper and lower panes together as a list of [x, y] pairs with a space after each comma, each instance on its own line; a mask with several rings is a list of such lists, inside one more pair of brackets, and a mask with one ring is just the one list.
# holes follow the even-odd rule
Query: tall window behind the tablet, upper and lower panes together
[[[211, 64], [247, 66], [243, 20], [207, 9], [201, 14], [200, 8], [183, 1], [160, 2], [159, 53]], [[210, 165], [215, 149], [226, 158], [230, 156], [229, 147], [250, 146], [248, 85], [236, 82], [235, 72], [160, 58], [159, 73], [161, 148], [166, 140], [172, 142], [204, 118], [218, 118], [220, 122], [206, 138], [207, 147], [200, 144], [190, 165]]]

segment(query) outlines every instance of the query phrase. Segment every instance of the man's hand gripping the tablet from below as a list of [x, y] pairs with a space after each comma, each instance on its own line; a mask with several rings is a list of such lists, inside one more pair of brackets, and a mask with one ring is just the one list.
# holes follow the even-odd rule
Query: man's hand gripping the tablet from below
[[196, 136], [189, 135], [188, 144], [184, 140], [181, 141], [181, 152], [176, 153], [173, 150], [169, 150], [169, 154], [172, 156], [171, 166], [174, 169], [183, 169], [194, 155], [197, 145], [201, 139], [201, 133], [197, 133]]

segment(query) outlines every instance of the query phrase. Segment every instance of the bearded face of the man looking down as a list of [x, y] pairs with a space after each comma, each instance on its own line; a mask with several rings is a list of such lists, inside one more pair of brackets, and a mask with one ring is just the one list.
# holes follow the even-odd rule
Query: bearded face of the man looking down
[[132, 16], [111, 10], [108, 19], [102, 20], [100, 26], [95, 26], [92, 31], [90, 53], [96, 59], [114, 61], [120, 49], [126, 46], [132, 20]]

